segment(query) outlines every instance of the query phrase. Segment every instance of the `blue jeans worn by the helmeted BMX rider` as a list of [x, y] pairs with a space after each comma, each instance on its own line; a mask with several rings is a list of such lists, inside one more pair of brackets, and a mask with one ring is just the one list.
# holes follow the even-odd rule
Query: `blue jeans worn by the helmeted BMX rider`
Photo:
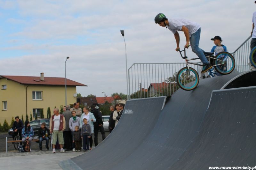
[[200, 58], [203, 64], [208, 64], [208, 60], [205, 58], [204, 50], [198, 47], [200, 40], [201, 28], [199, 28], [195, 33], [189, 38], [192, 51]]

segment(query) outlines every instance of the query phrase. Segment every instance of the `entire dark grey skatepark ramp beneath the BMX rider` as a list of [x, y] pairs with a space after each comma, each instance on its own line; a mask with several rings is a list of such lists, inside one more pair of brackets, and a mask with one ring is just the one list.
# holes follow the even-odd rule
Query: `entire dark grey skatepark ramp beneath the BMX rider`
[[128, 100], [125, 114], [102, 143], [59, 164], [63, 169], [255, 166], [256, 87], [233, 83], [222, 89], [254, 74], [200, 80], [193, 91], [179, 89], [164, 107], [165, 97]]

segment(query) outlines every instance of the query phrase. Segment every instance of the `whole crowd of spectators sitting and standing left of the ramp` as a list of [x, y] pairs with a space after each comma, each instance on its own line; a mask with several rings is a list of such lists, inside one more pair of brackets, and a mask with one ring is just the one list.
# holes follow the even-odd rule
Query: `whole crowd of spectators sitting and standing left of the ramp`
[[[82, 109], [79, 103], [74, 103], [74, 107], [69, 105], [63, 107], [63, 113], [60, 114], [58, 108], [54, 108], [53, 115], [50, 118], [49, 129], [45, 122], [41, 124], [38, 130], [39, 151], [42, 151], [42, 143], [45, 140], [45, 148], [49, 150], [49, 140], [52, 144], [52, 153], [56, 153], [56, 149], [60, 152], [72, 150], [79, 152], [83, 149], [84, 152], [92, 150], [93, 134], [94, 144], [98, 145], [98, 132], [102, 135], [102, 140], [106, 138], [103, 128], [102, 114], [99, 109], [95, 108], [97, 105], [93, 104], [91, 110], [88, 107]], [[124, 104], [116, 104], [110, 106], [111, 111], [109, 117], [108, 129], [111, 133], [116, 127], [120, 117], [123, 113]], [[34, 136], [34, 130], [30, 127], [29, 121], [23, 122], [19, 116], [15, 117], [15, 122], [12, 126], [14, 138], [19, 134], [22, 148], [26, 152], [31, 151], [31, 142]], [[52, 139], [50, 136], [52, 135]]]

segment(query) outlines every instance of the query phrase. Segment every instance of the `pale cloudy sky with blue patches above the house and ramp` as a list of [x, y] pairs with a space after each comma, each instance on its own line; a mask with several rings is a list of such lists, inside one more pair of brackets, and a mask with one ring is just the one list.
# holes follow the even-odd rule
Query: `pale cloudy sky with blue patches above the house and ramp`
[[200, 24], [205, 51], [219, 35], [233, 52], [250, 36], [254, 11], [254, 0], [0, 0], [0, 75], [65, 77], [69, 56], [67, 78], [88, 85], [77, 87], [82, 96], [126, 94], [121, 29], [128, 68], [183, 62], [172, 32], [155, 24], [156, 14]]

